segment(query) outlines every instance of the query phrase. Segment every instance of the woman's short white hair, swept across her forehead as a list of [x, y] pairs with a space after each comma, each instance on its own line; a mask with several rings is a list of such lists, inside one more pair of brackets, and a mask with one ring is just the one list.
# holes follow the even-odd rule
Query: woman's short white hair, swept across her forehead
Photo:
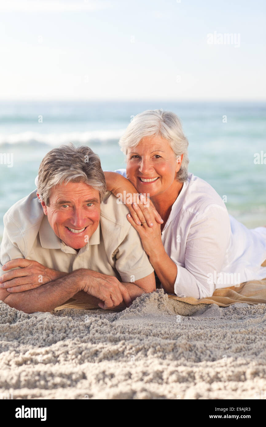
[[180, 120], [172, 111], [147, 110], [137, 114], [120, 138], [119, 145], [123, 153], [127, 154], [129, 147], [135, 147], [143, 137], [153, 135], [167, 139], [177, 158], [183, 154], [176, 179], [180, 182], [187, 181], [188, 140], [184, 135]]

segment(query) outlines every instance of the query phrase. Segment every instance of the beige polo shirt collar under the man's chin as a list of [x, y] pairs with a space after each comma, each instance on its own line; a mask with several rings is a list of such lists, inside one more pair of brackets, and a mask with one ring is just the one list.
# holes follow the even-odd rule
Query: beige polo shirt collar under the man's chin
[[[85, 252], [88, 250], [89, 245], [99, 245], [100, 243], [100, 222], [96, 230], [94, 231], [94, 234], [89, 239], [88, 243], [80, 249], [81, 252]], [[41, 246], [45, 249], [71, 249], [70, 252], [77, 253], [76, 249], [70, 248], [70, 246], [67, 246], [59, 237], [56, 236], [55, 232], [53, 231], [53, 228], [51, 227], [47, 215], [44, 215], [40, 228], [39, 228], [39, 237]], [[65, 252], [65, 250], [64, 250]]]

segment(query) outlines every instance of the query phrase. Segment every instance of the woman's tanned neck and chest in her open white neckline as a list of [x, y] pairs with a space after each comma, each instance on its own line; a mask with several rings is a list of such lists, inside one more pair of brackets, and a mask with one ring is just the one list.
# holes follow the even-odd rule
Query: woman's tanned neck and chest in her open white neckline
[[179, 182], [175, 180], [170, 187], [156, 196], [151, 197], [151, 201], [155, 206], [156, 211], [161, 215], [161, 218], [164, 220], [164, 224], [167, 222], [167, 219], [170, 215], [172, 205], [177, 199], [179, 193], [183, 188], [184, 182]]

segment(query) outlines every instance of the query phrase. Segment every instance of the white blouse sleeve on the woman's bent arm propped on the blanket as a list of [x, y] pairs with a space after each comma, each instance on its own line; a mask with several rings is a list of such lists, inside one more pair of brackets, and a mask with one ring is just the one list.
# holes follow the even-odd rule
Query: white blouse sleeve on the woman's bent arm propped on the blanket
[[185, 267], [177, 265], [177, 296], [200, 299], [213, 295], [215, 277], [225, 260], [230, 227], [228, 211], [219, 205], [209, 205], [196, 216], [187, 236]]

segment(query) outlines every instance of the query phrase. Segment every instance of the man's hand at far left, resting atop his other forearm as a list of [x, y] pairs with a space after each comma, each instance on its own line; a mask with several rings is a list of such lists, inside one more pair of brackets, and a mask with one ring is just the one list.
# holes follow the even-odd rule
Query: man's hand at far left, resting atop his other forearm
[[[20, 268], [18, 268], [20, 267]], [[67, 273], [62, 273], [43, 266], [37, 261], [27, 260], [26, 258], [16, 258], [8, 261], [2, 270], [11, 270], [6, 272], [0, 278], [0, 288], [8, 292], [23, 292], [56, 280]]]

